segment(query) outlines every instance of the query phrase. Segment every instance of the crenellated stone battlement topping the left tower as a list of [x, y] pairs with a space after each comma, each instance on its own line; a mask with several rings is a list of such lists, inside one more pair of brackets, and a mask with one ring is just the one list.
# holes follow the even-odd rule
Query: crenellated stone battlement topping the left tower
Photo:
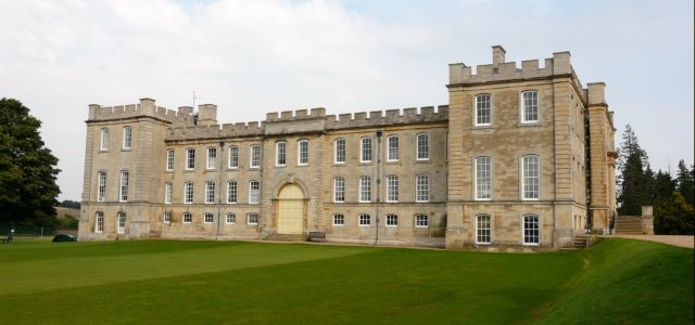
[[151, 116], [166, 120], [175, 125], [192, 125], [193, 116], [190, 112], [178, 112], [156, 106], [152, 99], [141, 99], [139, 104], [106, 106], [97, 104], [89, 105], [89, 116], [87, 121], [104, 121], [114, 119], [134, 118], [140, 116]]

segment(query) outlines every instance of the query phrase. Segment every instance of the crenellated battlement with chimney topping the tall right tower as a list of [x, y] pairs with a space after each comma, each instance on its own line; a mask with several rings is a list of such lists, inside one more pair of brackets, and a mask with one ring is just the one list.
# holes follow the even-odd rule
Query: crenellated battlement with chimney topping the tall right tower
[[516, 62], [505, 62], [505, 51], [500, 46], [492, 47], [492, 64], [476, 66], [476, 74], [472, 68], [464, 63], [448, 65], [448, 83], [482, 83], [490, 81], [533, 79], [551, 77], [556, 75], [572, 74], [569, 52], [553, 53], [553, 57], [545, 58], [543, 67], [540, 67], [539, 60], [527, 60], [521, 62], [521, 68]]

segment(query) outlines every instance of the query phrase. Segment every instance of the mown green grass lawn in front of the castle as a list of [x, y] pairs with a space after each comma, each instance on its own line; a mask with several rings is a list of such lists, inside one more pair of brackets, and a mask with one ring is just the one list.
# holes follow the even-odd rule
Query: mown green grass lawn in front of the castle
[[693, 323], [693, 250], [484, 253], [243, 242], [0, 245], [18, 324]]

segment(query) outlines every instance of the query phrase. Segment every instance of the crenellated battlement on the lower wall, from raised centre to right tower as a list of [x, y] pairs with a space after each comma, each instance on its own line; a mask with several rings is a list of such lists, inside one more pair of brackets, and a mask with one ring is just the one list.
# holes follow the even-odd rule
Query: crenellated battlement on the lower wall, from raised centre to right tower
[[417, 108], [413, 107], [404, 108], [403, 114], [401, 114], [401, 109], [387, 109], [386, 112], [358, 112], [354, 115], [350, 113], [338, 116], [329, 115], [326, 117], [326, 129], [338, 130], [448, 120], [447, 105], [438, 106], [437, 112], [434, 112], [434, 106], [421, 107], [419, 114], [417, 110]]

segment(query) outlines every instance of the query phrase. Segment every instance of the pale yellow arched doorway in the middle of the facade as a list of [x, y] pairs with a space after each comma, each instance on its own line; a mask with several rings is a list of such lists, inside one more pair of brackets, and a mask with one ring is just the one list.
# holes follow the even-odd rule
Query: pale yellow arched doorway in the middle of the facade
[[278, 195], [278, 234], [304, 232], [304, 191], [288, 184]]

